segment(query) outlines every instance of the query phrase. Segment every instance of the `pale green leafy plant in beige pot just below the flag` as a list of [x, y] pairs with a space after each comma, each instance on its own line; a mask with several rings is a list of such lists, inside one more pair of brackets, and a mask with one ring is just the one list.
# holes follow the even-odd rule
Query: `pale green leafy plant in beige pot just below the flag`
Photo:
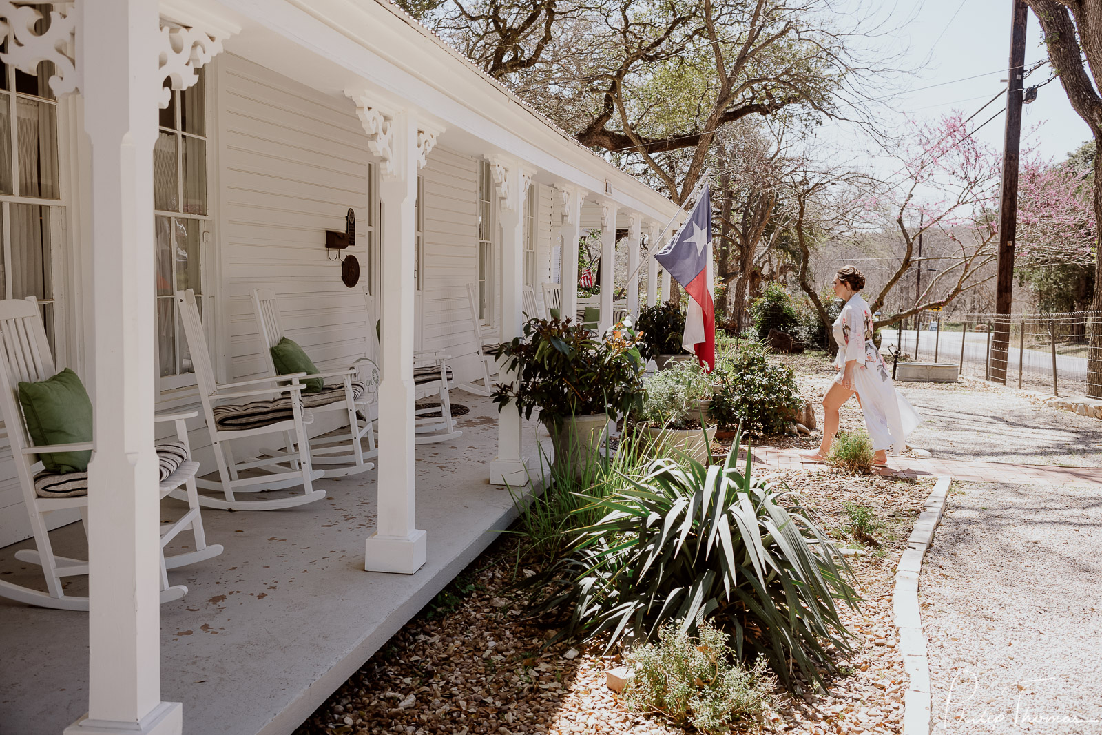
[[696, 462], [707, 460], [716, 428], [707, 425], [712, 381], [700, 364], [674, 363], [650, 376], [646, 388], [642, 406], [634, 414], [642, 424], [642, 434], [660, 450], [682, 453]]

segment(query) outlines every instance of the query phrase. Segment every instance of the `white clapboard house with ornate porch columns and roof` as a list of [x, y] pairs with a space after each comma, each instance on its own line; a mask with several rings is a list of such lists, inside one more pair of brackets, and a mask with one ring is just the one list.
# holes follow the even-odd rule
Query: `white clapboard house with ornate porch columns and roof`
[[[426, 500], [415, 482], [425, 474], [415, 465], [414, 350], [445, 350], [457, 381], [473, 378], [479, 345], [468, 283], [478, 288], [484, 337], [511, 338], [525, 285], [534, 287], [542, 309], [540, 284], [565, 273], [563, 310], [576, 310], [576, 247], [562, 244], [576, 244], [583, 225], [602, 228], [607, 262], [615, 230], [629, 230], [634, 267], [640, 238], [653, 242], [678, 207], [386, 0], [0, 0], [0, 33], [4, 298], [40, 300], [58, 366], [84, 378], [96, 409], [91, 612], [17, 610], [0, 599], [0, 650], [26, 628], [43, 641], [48, 625], [87, 630], [84, 689], [69, 696], [83, 699], [89, 715], [65, 732], [214, 732], [191, 727], [197, 713], [170, 693], [162, 698], [160, 620], [170, 613], [158, 604], [159, 508], [144, 491], [155, 477], [152, 417], [197, 401], [173, 292], [201, 294], [222, 380], [262, 375], [250, 303], [261, 287], [279, 294], [289, 332], [321, 367], [344, 367], [365, 353], [380, 363], [387, 444], [359, 574], [413, 574], [428, 559], [439, 588], [462, 569], [461, 551], [469, 556], [477, 544], [441, 544], [446, 558], [429, 559], [419, 523]], [[325, 230], [344, 229], [349, 208], [356, 241], [344, 255], [361, 269], [353, 288], [342, 282], [339, 256], [324, 247]], [[657, 270], [627, 284], [633, 310], [653, 303]], [[613, 273], [604, 269], [603, 285]], [[604, 288], [603, 321], [611, 300]], [[333, 428], [320, 423], [311, 433]], [[192, 426], [193, 447], [206, 465], [199, 429]], [[503, 413], [490, 433], [465, 439], [490, 450], [467, 476], [483, 485], [526, 482], [519, 417]], [[0, 547], [30, 536], [10, 457], [4, 444]], [[489, 491], [490, 515], [504, 518], [508, 493]], [[262, 528], [280, 512], [234, 522]], [[63, 515], [55, 526], [74, 520]], [[234, 550], [235, 539], [217, 540]], [[396, 603], [372, 623], [371, 640], [415, 610]], [[289, 695], [295, 713], [321, 702], [357, 656], [363, 663], [374, 650], [369, 638], [334, 653], [341, 666], [311, 663], [309, 691]], [[249, 656], [240, 650], [222, 666], [244, 671]], [[26, 705], [0, 702], [0, 732], [8, 732], [4, 717], [15, 722], [12, 713]], [[298, 724], [295, 713], [272, 714], [280, 702], [268, 706], [224, 732], [290, 733]]]

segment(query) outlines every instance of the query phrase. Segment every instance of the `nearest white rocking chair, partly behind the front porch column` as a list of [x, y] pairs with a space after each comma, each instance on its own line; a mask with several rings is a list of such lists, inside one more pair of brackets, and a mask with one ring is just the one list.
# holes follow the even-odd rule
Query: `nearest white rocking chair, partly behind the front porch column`
[[[11, 442], [15, 474], [23, 490], [23, 504], [31, 521], [35, 545], [34, 549], [17, 551], [15, 558], [41, 566], [46, 577], [46, 592], [0, 581], [0, 596], [40, 607], [87, 610], [88, 598], [66, 595], [62, 577], [88, 574], [88, 562], [54, 553], [46, 528], [46, 517], [60, 510], [79, 509], [87, 532], [88, 473], [47, 473], [41, 467], [37, 455], [43, 452], [91, 450], [95, 444], [87, 442], [33, 446], [19, 403], [20, 381], [46, 380], [55, 372], [50, 343], [46, 341], [34, 298], [0, 301], [0, 411]], [[187, 428], [184, 425], [185, 419], [194, 415], [197, 413], [192, 411], [154, 417], [159, 422], [175, 423], [177, 439], [176, 442], [156, 445], [163, 468], [159, 487], [160, 497], [164, 498], [176, 488], [185, 486], [184, 498], [190, 506], [177, 520], [162, 525], [160, 529], [162, 603], [180, 599], [187, 594], [187, 587], [184, 585], [169, 585], [168, 570], [217, 556], [223, 551], [222, 544], [207, 544], [203, 530], [198, 490], [195, 486], [195, 473], [199, 464], [191, 460]], [[188, 529], [195, 538], [194, 550], [165, 558], [164, 547]]]

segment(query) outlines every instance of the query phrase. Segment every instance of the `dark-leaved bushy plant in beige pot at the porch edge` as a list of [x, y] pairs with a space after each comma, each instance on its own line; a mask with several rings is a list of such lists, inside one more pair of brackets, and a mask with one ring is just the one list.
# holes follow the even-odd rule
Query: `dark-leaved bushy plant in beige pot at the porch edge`
[[551, 434], [552, 473], [580, 478], [601, 457], [609, 417], [638, 410], [642, 403], [645, 360], [630, 324], [619, 324], [603, 338], [566, 320], [529, 320], [523, 335], [486, 350], [516, 376], [494, 386], [498, 411], [508, 404], [540, 421]]

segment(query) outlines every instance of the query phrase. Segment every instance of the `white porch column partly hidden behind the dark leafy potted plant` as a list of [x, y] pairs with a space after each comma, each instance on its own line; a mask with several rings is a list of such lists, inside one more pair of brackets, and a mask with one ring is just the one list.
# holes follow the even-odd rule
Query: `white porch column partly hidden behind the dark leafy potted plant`
[[[519, 337], [523, 317], [525, 284], [525, 197], [532, 183], [532, 172], [512, 159], [490, 162], [498, 193], [498, 223], [501, 225], [501, 342]], [[512, 374], [499, 367], [500, 382]], [[527, 460], [520, 452], [520, 412], [508, 407], [497, 414], [497, 458], [489, 465], [491, 485], [521, 487], [528, 484]]]

